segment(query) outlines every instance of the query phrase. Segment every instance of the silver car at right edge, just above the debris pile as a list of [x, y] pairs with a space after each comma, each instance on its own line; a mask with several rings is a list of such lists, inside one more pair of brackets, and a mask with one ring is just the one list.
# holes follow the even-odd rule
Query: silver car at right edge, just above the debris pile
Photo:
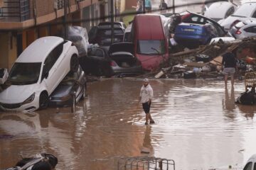
[[256, 36], [256, 21], [240, 21], [230, 28], [228, 33], [236, 39], [254, 37]]

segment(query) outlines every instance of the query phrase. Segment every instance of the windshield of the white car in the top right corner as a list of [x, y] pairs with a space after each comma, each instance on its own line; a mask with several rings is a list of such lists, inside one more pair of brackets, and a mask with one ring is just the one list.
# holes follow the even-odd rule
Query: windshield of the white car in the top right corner
[[255, 5], [252, 3], [246, 3], [240, 6], [237, 11], [232, 16], [237, 17], [250, 17], [252, 12], [255, 11]]

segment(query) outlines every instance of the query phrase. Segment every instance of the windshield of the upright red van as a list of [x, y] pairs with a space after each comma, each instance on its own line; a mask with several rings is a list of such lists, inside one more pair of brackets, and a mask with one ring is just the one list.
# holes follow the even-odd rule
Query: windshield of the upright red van
[[163, 55], [166, 53], [164, 40], [138, 40], [137, 52], [144, 55]]

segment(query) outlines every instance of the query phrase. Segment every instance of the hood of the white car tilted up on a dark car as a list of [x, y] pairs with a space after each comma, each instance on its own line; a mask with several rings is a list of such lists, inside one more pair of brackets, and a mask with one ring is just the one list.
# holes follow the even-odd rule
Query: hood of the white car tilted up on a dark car
[[31, 96], [37, 84], [30, 85], [11, 85], [0, 93], [0, 103], [22, 103]]

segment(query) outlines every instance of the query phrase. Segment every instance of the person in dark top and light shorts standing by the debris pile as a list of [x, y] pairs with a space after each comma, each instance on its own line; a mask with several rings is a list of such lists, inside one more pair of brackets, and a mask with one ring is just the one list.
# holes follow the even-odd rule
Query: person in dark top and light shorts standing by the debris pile
[[225, 87], [227, 87], [228, 83], [228, 75], [231, 77], [231, 85], [234, 86], [234, 74], [235, 69], [237, 67], [235, 55], [232, 53], [230, 47], [228, 51], [223, 55], [223, 74], [225, 75]]

